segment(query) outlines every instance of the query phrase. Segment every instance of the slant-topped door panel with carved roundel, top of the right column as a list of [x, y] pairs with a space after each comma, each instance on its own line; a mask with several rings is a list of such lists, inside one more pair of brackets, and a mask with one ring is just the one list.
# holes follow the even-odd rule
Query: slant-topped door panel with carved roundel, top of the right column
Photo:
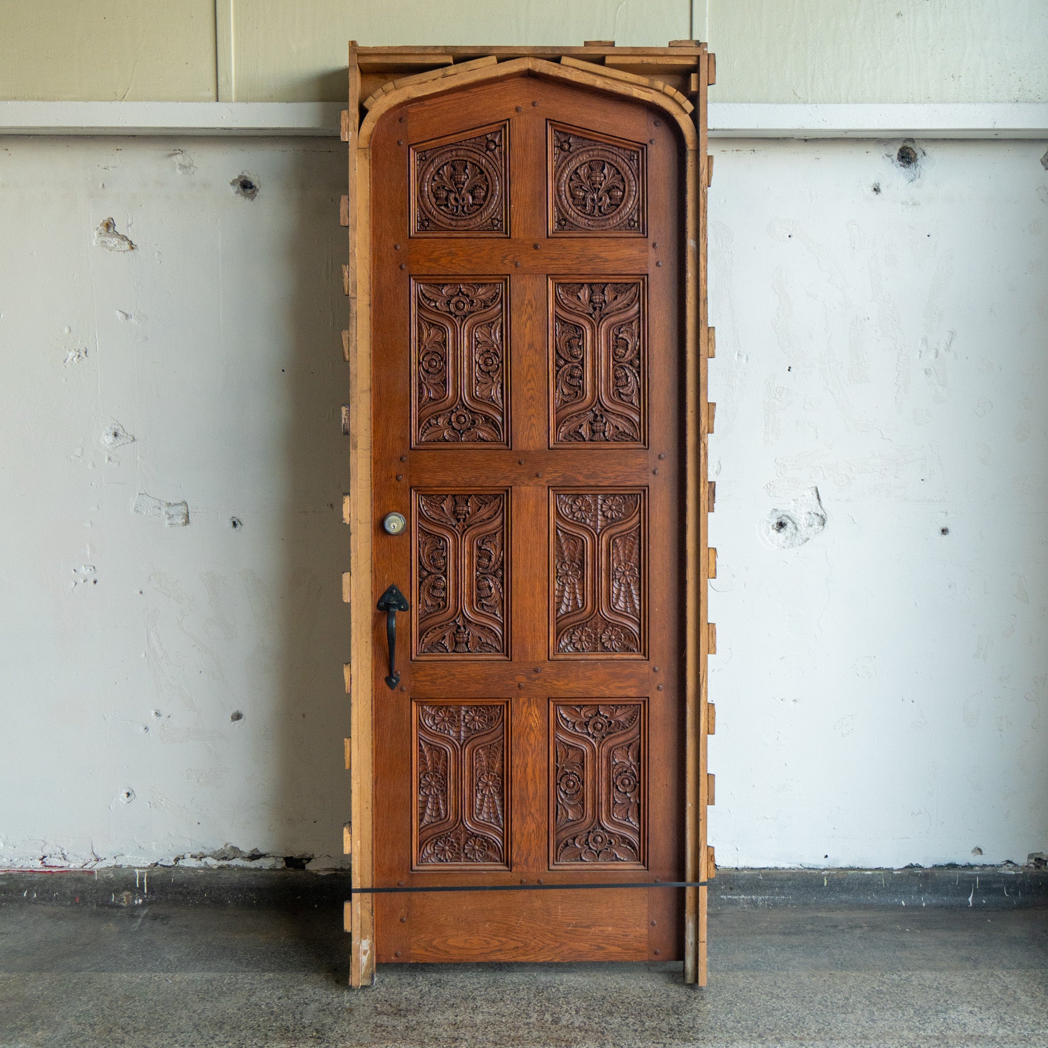
[[646, 147], [553, 122], [547, 134], [550, 235], [646, 236]]

